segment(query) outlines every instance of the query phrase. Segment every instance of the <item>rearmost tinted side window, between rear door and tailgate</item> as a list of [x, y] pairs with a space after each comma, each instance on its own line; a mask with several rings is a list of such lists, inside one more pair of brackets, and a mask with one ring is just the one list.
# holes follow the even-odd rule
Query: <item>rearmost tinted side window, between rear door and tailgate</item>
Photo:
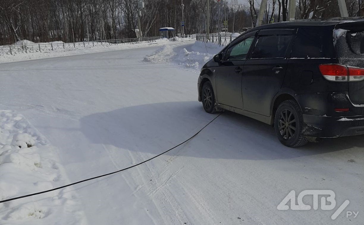
[[291, 58], [335, 58], [332, 30], [299, 28]]

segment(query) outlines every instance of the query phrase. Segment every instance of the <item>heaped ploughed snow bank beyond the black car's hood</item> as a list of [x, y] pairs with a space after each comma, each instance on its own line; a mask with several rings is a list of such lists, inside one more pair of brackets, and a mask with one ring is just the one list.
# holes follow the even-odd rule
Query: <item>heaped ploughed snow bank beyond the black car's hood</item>
[[177, 46], [162, 46], [159, 50], [144, 58], [144, 62], [170, 62], [186, 68], [200, 69], [217, 54], [223, 46], [213, 43], [195, 42], [190, 50], [179, 49]]

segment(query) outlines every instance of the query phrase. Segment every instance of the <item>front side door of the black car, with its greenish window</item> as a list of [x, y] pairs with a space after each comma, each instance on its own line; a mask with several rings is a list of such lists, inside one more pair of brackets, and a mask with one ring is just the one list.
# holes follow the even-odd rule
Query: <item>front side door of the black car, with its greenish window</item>
[[238, 37], [222, 53], [222, 62], [215, 69], [218, 103], [236, 108], [243, 107], [241, 95], [242, 72], [255, 33], [256, 31]]

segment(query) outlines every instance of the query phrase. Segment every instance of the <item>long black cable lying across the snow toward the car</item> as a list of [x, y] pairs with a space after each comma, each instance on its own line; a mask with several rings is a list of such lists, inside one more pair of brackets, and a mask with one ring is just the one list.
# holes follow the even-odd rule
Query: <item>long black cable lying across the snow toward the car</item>
[[23, 196], [19, 196], [19, 197], [14, 197], [14, 198], [9, 198], [9, 199], [5, 199], [5, 200], [1, 200], [0, 203], [4, 203], [4, 202], [9, 202], [9, 201], [13, 201], [13, 200], [17, 200], [17, 199], [20, 199], [20, 198], [26, 198], [26, 197], [30, 197], [30, 196], [35, 196], [35, 195], [39, 195], [39, 194], [43, 194], [43, 193], [47, 193], [47, 192], [52, 192], [52, 191], [55, 191], [55, 190], [58, 190], [58, 189], [62, 189], [62, 188], [65, 188], [65, 187], [68, 187], [68, 186], [72, 186], [72, 185], [76, 185], [78, 183], [83, 183], [83, 182], [86, 182], [86, 181], [91, 181], [93, 179], [97, 179], [97, 178], [100, 178], [100, 177], [106, 177], [108, 175], [111, 175], [111, 174], [114, 174], [114, 173], [119, 173], [119, 172], [122, 172], [124, 170], [128, 170], [128, 169], [131, 169], [132, 167], [136, 167], [136, 166], [139, 166], [139, 165], [142, 165], [143, 163], [146, 163], [148, 161], [151, 161], [152, 159], [155, 159], [163, 154], [166, 154], [167, 152], [169, 152], [170, 150], [173, 150], [175, 149], [176, 147], [180, 146], [180, 145], [183, 145], [184, 143], [186, 143], [187, 141], [190, 141], [192, 138], [194, 138], [197, 134], [199, 134], [203, 129], [205, 129], [205, 127], [209, 126], [210, 123], [212, 123], [216, 118], [218, 118], [220, 115], [222, 114], [222, 112], [217, 115], [213, 120], [211, 120], [209, 123], [207, 123], [204, 127], [202, 127], [201, 130], [199, 130], [197, 133], [195, 133], [192, 137], [190, 137], [189, 139], [187, 139], [186, 141], [174, 146], [173, 148], [171, 149], [168, 149], [167, 151], [165, 152], [162, 152], [161, 154], [158, 154], [158, 155], [155, 155], [154, 157], [150, 158], [150, 159], [147, 159], [146, 161], [143, 161], [143, 162], [139, 162], [138, 164], [135, 164], [135, 165], [132, 165], [132, 166], [129, 166], [129, 167], [126, 167], [124, 169], [121, 169], [121, 170], [118, 170], [118, 171], [114, 171], [114, 172], [111, 172], [111, 173], [107, 173], [107, 174], [103, 174], [103, 175], [99, 175], [97, 177], [91, 177], [91, 178], [88, 178], [88, 179], [84, 179], [82, 181], [77, 181], [77, 182], [74, 182], [74, 183], [70, 183], [70, 184], [67, 184], [67, 185], [64, 185], [64, 186], [60, 186], [60, 187], [56, 187], [54, 189], [49, 189], [49, 190], [45, 190], [45, 191], [42, 191], [42, 192], [36, 192], [36, 193], [32, 193], [32, 194], [27, 194], [27, 195], [23, 195]]

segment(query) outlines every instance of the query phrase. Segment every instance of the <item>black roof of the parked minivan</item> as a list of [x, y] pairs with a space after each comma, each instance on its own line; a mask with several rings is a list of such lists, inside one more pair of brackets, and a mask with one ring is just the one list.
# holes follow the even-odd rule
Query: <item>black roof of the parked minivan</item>
[[345, 18], [336, 17], [336, 18], [330, 18], [327, 20], [318, 20], [318, 19], [294, 20], [294, 21], [289, 21], [289, 22], [266, 24], [266, 25], [262, 25], [262, 26], [250, 29], [249, 31], [265, 29], [265, 28], [299, 28], [299, 27], [333, 28], [333, 27], [335, 27], [336, 24], [352, 23], [352, 22], [364, 23], [364, 18], [363, 17], [345, 17]]

